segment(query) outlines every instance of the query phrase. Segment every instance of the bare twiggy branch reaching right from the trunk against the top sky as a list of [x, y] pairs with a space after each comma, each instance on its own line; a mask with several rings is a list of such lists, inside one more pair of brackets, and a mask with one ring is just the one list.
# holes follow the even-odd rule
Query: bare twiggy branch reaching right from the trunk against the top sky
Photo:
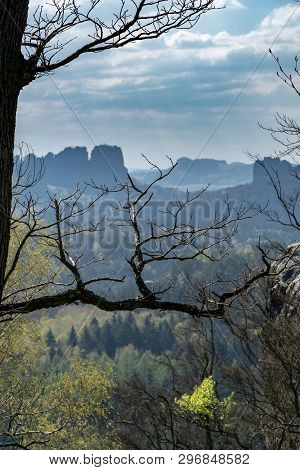
[[[87, 53], [117, 49], [137, 41], [158, 38], [170, 30], [193, 27], [216, 9], [215, 0], [120, 0], [104, 19], [101, 0], [81, 5], [77, 0], [51, 0], [32, 12], [23, 38], [27, 53], [25, 84], [53, 72]], [[102, 19], [101, 19], [102, 17]], [[84, 43], [72, 43], [78, 36]]]

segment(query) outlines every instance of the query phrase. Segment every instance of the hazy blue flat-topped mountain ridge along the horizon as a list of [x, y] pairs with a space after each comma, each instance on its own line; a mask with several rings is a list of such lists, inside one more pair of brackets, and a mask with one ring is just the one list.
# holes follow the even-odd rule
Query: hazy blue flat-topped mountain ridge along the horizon
[[[51, 189], [63, 189], [69, 192], [73, 191], [78, 183], [90, 181], [94, 181], [97, 185], [113, 187], [117, 182], [124, 183], [127, 180], [128, 170], [122, 150], [118, 146], [98, 145], [90, 155], [86, 147], [67, 147], [57, 154], [48, 153], [41, 158], [33, 155], [30, 160], [32, 167], [37, 167], [39, 162], [44, 166], [44, 177], [39, 184], [39, 192]], [[225, 160], [191, 160], [183, 157], [177, 161], [173, 172], [160, 181], [158, 186], [163, 193], [167, 188], [173, 188], [174, 191], [177, 189], [180, 192], [185, 188], [191, 191], [199, 190], [207, 185], [210, 185], [210, 190], [216, 192], [223, 192], [228, 188], [232, 193], [235, 192], [235, 187], [243, 185], [250, 185], [251, 192], [254, 193], [257, 188], [265, 192], [266, 185], [269, 185], [267, 169], [274, 176], [279, 175], [284, 185], [291, 187], [293, 166], [289, 162], [272, 157], [265, 158], [263, 162], [265, 168], [260, 162], [227, 163]], [[147, 184], [157, 177], [157, 170], [133, 170], [130, 174], [139, 183]], [[156, 190], [158, 192], [160, 192], [159, 187]], [[238, 192], [240, 193], [240, 189]], [[168, 193], [164, 194], [163, 198], [167, 196]]]

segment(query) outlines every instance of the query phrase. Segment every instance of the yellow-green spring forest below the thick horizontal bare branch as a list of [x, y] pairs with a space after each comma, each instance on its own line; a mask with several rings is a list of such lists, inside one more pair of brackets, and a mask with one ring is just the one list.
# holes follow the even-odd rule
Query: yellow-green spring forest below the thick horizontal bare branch
[[[223, 269], [242, 275], [254, 258], [237, 251]], [[78, 305], [3, 327], [1, 445], [298, 448], [299, 319], [274, 315], [269, 292], [256, 284], [225, 322]], [[291, 311], [291, 294], [285, 305]]]

